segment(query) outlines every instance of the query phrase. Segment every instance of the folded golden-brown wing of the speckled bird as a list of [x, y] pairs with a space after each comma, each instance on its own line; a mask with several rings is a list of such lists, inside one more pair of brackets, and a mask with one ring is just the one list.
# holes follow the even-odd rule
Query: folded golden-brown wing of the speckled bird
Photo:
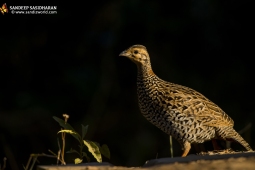
[[169, 100], [173, 109], [178, 109], [188, 117], [195, 117], [207, 126], [234, 126], [234, 121], [201, 93], [177, 84], [167, 82], [167, 85], [164, 91], [169, 94], [165, 96], [171, 96], [172, 101]]

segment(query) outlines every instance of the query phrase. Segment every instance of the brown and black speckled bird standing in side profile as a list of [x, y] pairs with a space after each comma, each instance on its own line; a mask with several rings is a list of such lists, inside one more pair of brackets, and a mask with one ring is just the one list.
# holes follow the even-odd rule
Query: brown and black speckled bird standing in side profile
[[141, 113], [153, 125], [172, 135], [185, 157], [192, 143], [223, 139], [249, 144], [233, 129], [234, 121], [201, 93], [160, 79], [152, 71], [143, 45], [133, 45], [120, 53], [137, 65], [137, 94]]

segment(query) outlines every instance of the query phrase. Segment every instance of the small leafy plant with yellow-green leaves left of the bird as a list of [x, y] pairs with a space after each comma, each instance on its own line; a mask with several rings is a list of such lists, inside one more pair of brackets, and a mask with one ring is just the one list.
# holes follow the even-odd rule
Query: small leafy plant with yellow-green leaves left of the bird
[[61, 153], [62, 160], [64, 160], [66, 133], [71, 134], [79, 142], [79, 145], [78, 145], [79, 151], [71, 148], [70, 151], [66, 152], [66, 153], [77, 153], [79, 155], [79, 157], [74, 160], [75, 164], [81, 163], [84, 157], [87, 159], [88, 162], [90, 162], [90, 158], [88, 157], [87, 153], [83, 151], [84, 146], [87, 146], [88, 151], [94, 156], [97, 162], [102, 162], [101, 154], [104, 155], [106, 158], [110, 159], [110, 151], [107, 145], [104, 144], [100, 146], [100, 144], [97, 142], [84, 139], [88, 131], [88, 125], [87, 126], [81, 125], [82, 133], [80, 135], [74, 130], [74, 128], [69, 123], [67, 123], [67, 119], [69, 118], [69, 116], [66, 114], [64, 114], [63, 116], [65, 120], [62, 120], [58, 117], [53, 116], [53, 119], [55, 119], [59, 123], [59, 125], [64, 128], [58, 132], [58, 133], [62, 133], [62, 142], [63, 142], [62, 153]]

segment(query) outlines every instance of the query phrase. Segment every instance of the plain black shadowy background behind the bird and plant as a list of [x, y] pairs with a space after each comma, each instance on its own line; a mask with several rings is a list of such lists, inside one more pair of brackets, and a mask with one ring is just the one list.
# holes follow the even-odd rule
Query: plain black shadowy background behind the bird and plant
[[[160, 78], [204, 94], [237, 131], [255, 123], [248, 0], [6, 3], [58, 7], [56, 15], [0, 15], [0, 160], [7, 156], [12, 169], [31, 153], [57, 153], [60, 127], [52, 117], [63, 113], [78, 132], [89, 125], [86, 139], [109, 146], [111, 159], [103, 161], [141, 166], [170, 156], [169, 137], [139, 112], [135, 64], [118, 56], [134, 44], [147, 47]], [[253, 149], [254, 133], [252, 126], [242, 134]], [[67, 150], [77, 148], [70, 135], [66, 142]], [[174, 156], [180, 155], [174, 140]], [[66, 162], [75, 156], [66, 154]]]

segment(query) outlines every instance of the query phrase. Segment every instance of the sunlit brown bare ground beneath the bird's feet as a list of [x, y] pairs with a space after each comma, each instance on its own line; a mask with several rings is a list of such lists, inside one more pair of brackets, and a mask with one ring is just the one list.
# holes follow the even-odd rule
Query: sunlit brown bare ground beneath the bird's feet
[[109, 163], [85, 163], [66, 166], [38, 166], [37, 170], [255, 170], [255, 152], [232, 150], [202, 152], [185, 158], [160, 158], [147, 161], [142, 167], [120, 167]]

